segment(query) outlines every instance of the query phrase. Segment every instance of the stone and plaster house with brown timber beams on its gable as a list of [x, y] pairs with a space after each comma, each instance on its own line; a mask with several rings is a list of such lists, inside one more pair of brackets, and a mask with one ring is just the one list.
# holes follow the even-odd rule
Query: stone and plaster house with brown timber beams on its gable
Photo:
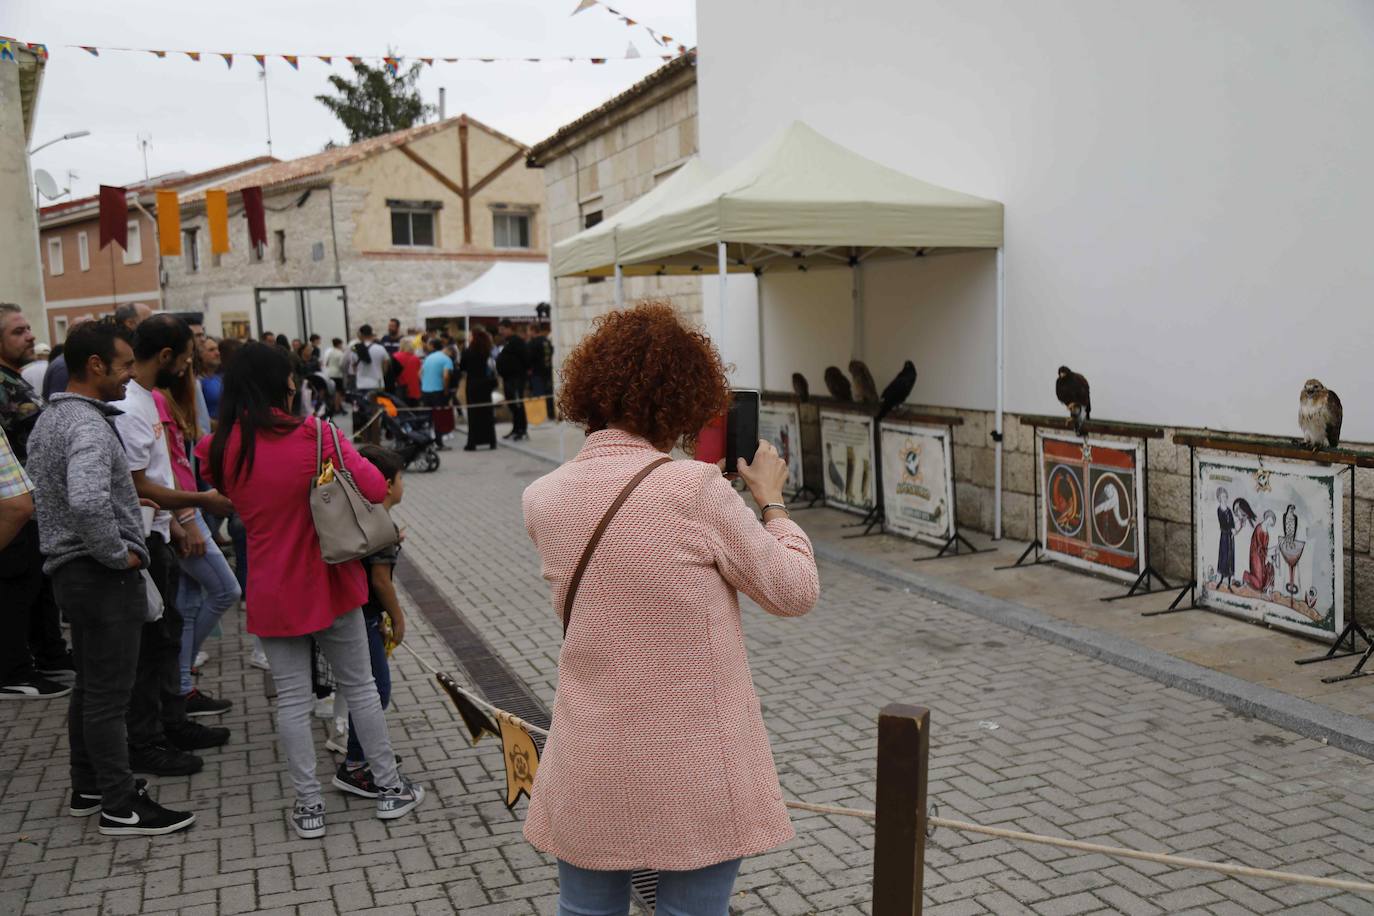
[[[210, 334], [348, 339], [500, 260], [547, 258], [529, 150], [467, 115], [282, 162], [223, 187], [229, 251], [210, 253], [205, 195], [181, 201], [183, 253], [164, 258], [166, 308], [206, 313]], [[242, 198], [262, 187], [267, 239], [249, 246]], [[344, 317], [346, 309], [346, 320]]]

